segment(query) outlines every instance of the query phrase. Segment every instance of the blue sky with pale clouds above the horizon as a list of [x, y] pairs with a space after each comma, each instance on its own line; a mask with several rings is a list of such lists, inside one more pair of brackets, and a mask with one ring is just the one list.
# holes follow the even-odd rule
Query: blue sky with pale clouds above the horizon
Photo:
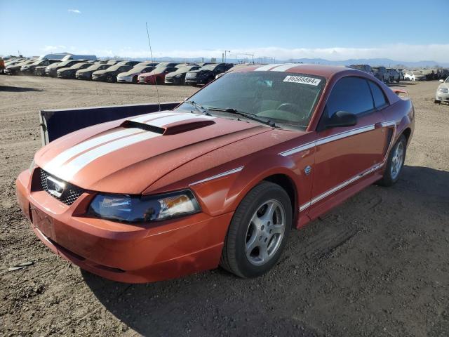
[[[0, 55], [49, 52], [449, 62], [447, 0], [0, 0]], [[441, 8], [441, 11], [447, 8]], [[444, 32], [444, 36], [443, 36]], [[232, 57], [232, 56], [231, 56]]]

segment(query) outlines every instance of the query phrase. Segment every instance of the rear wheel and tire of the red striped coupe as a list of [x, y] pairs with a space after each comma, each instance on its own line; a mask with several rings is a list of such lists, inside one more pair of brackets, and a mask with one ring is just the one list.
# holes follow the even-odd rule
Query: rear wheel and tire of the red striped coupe
[[391, 148], [388, 155], [387, 166], [385, 167], [384, 176], [377, 183], [381, 186], [392, 186], [401, 176], [404, 161], [406, 161], [407, 140], [401, 135], [396, 144]]

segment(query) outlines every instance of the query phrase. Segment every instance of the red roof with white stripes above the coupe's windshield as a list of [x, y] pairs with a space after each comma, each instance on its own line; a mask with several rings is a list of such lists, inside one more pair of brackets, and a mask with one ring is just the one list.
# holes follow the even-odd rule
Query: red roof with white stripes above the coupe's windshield
[[284, 63], [284, 64], [270, 64], [270, 65], [250, 65], [248, 67], [238, 67], [231, 72], [253, 72], [253, 71], [275, 71], [275, 72], [293, 72], [297, 74], [314, 74], [326, 79], [333, 77], [339, 72], [349, 72], [353, 74], [360, 74], [360, 70], [353, 68], [336, 66], [336, 65], [312, 65], [306, 63]]

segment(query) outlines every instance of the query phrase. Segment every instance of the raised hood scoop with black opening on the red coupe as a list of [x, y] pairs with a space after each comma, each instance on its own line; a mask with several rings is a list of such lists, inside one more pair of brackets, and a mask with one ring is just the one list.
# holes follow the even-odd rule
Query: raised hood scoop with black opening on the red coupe
[[121, 126], [123, 128], [140, 128], [145, 131], [159, 133], [163, 136], [169, 136], [169, 135], [176, 135], [178, 133], [196, 130], [197, 128], [203, 128], [205, 126], [210, 126], [212, 124], [215, 124], [215, 121], [213, 121], [213, 119], [194, 118], [194, 119], [187, 119], [184, 121], [177, 121], [177, 122], [168, 124], [164, 127], [154, 126], [154, 125], [151, 125], [150, 123], [151, 123], [151, 121], [148, 121], [147, 123], [140, 123], [138, 121], [127, 120], [127, 121], [123, 121]]

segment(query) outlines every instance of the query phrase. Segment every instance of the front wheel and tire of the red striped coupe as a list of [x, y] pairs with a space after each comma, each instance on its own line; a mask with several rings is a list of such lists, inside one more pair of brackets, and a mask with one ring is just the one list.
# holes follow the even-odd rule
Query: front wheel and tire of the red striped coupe
[[220, 265], [243, 278], [268, 272], [286, 245], [292, 217], [291, 201], [282, 187], [266, 181], [255, 186], [232, 217]]

